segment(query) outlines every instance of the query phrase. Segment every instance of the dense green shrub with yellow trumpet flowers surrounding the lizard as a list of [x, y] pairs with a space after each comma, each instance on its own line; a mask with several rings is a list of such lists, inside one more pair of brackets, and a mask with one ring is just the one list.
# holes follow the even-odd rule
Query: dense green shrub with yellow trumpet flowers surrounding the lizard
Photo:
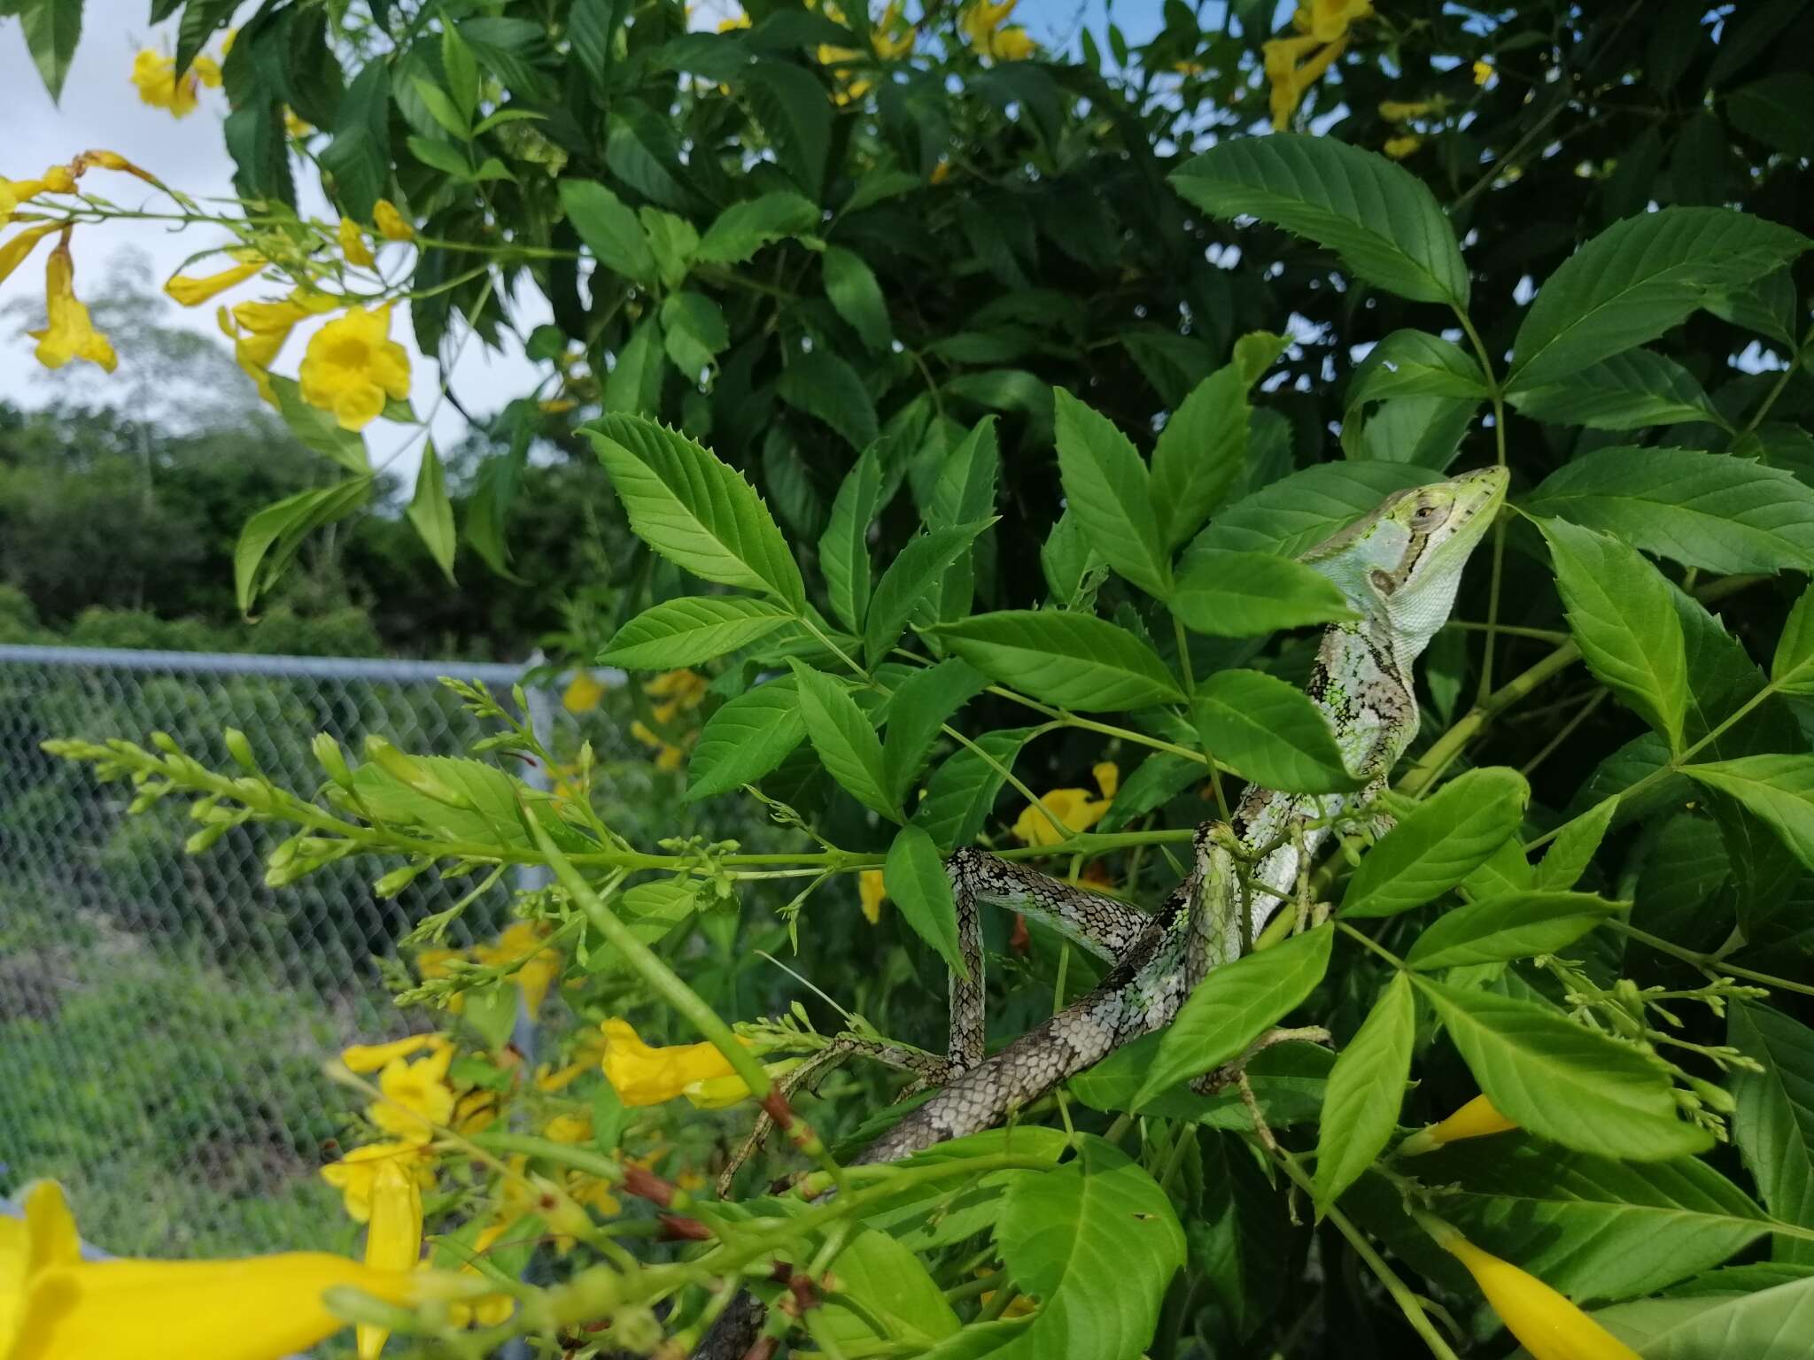
[[[25, 7], [54, 78], [62, 31]], [[174, 80], [230, 9], [183, 7]], [[339, 479], [254, 517], [241, 606], [370, 495], [356, 430], [415, 415], [370, 305], [410, 297], [437, 354], [533, 285], [548, 384], [499, 417], [459, 537], [508, 568], [537, 439], [597, 453], [573, 488], [642, 544], [600, 655], [655, 675], [631, 698], [689, 794], [747, 789], [784, 841], [651, 843], [584, 753], [533, 792], [488, 756], [555, 756], [477, 691], [475, 758], [327, 743], [319, 792], [243, 738], [227, 771], [56, 747], [194, 796], [198, 849], [296, 827], [278, 883], [363, 852], [386, 890], [551, 872], [513, 936], [408, 941], [395, 981], [446, 1035], [346, 1055], [372, 1084], [328, 1175], [368, 1258], [412, 1262], [426, 1209], [435, 1260], [502, 1297], [368, 1327], [678, 1353], [749, 1287], [773, 1340], [827, 1355], [1491, 1356], [1500, 1324], [1624, 1355], [1575, 1300], [1653, 1360], [1807, 1351], [1814, 15], [1310, 0], [1270, 38], [1264, 9], [1168, 5], [1145, 47], [1074, 54], [976, 4], [722, 33], [619, 0], [268, 4], [239, 29], [223, 225], [299, 312], [343, 312], [294, 388], [241, 346]], [[299, 169], [343, 227], [287, 212]], [[388, 268], [366, 225], [406, 277], [361, 272]], [[1342, 600], [1293, 559], [1486, 464], [1509, 510], [1366, 809], [1397, 825], [1339, 818], [1301, 912], [1010, 1128], [851, 1166], [898, 1083], [802, 1079], [842, 1034], [943, 1039], [940, 858], [1019, 841], [1154, 908], [1241, 780], [1353, 785], [1297, 687]], [[758, 1019], [731, 979], [780, 930], [740, 898], [776, 885], [804, 986]], [[987, 941], [992, 1037], [1097, 977], [1043, 930]], [[519, 1005], [562, 1035], [544, 1070], [508, 1044]], [[1252, 1050], [1284, 1023], [1330, 1044]], [[749, 1095], [791, 1124], [760, 1173], [731, 1159]]]

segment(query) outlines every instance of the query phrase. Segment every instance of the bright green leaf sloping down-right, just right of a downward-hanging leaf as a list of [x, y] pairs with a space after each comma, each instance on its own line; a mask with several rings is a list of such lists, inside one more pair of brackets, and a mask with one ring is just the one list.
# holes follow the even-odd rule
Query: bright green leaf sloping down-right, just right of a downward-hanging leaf
[[1480, 1090], [1518, 1128], [1564, 1148], [1638, 1162], [1712, 1146], [1676, 1117], [1667, 1072], [1562, 1012], [1413, 976]]

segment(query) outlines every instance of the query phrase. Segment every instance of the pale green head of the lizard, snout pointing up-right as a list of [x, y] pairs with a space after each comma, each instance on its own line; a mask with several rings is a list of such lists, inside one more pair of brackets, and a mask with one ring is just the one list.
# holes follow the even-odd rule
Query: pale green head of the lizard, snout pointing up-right
[[1504, 468], [1393, 491], [1379, 510], [1304, 553], [1364, 620], [1391, 633], [1404, 665], [1448, 622], [1468, 557], [1506, 500]]

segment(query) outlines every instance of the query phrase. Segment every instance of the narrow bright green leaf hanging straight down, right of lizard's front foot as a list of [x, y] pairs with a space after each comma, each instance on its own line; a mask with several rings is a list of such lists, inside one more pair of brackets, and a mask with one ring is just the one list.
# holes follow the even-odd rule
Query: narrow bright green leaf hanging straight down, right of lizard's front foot
[[1415, 1043], [1411, 981], [1395, 972], [1330, 1070], [1317, 1128], [1317, 1204], [1339, 1200], [1391, 1142]]

